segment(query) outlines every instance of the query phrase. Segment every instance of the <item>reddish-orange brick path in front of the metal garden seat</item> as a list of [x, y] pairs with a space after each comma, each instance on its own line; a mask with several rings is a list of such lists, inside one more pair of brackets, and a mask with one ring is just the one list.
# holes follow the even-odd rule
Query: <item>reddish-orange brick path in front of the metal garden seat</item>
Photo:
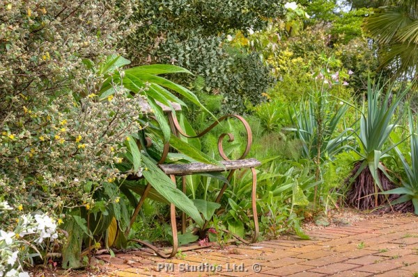
[[[418, 277], [418, 217], [369, 219], [308, 234], [311, 240], [281, 237], [223, 250], [184, 252], [169, 260], [144, 251], [118, 254], [116, 258], [99, 255], [96, 258], [101, 261], [102, 274], [93, 275]], [[208, 272], [210, 269], [216, 271]]]

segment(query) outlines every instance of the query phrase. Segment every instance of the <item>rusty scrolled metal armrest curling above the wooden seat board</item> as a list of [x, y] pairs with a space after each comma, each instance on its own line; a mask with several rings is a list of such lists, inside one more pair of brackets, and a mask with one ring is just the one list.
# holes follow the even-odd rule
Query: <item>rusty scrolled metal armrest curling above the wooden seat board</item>
[[[183, 131], [180, 124], [178, 123], [176, 115], [174, 113], [169, 114], [169, 121], [170, 121], [170, 124], [171, 124], [171, 128], [174, 128], [176, 130], [176, 133], [178, 133], [180, 135], [183, 135], [183, 137], [187, 137], [187, 138], [203, 137], [203, 135], [206, 135], [206, 133], [208, 133], [213, 128], [215, 128], [215, 126], [217, 126], [219, 123], [221, 123], [225, 119], [229, 119], [229, 118], [238, 119], [242, 123], [242, 125], [244, 125], [245, 131], [247, 132], [247, 145], [245, 146], [245, 151], [244, 151], [244, 153], [242, 153], [240, 158], [238, 158], [238, 160], [242, 160], [248, 155], [249, 149], [251, 149], [252, 133], [251, 133], [251, 128], [249, 127], [248, 122], [243, 117], [241, 117], [240, 115], [224, 115], [223, 117], [219, 117], [219, 119], [217, 119], [217, 121], [212, 123], [208, 128], [204, 129], [201, 133], [198, 133], [197, 135], [187, 135], [187, 133], [185, 133], [185, 131]], [[219, 135], [219, 138], [218, 138], [218, 151], [219, 151], [219, 155], [224, 160], [231, 160], [225, 155], [224, 147], [222, 146], [222, 142], [224, 140], [224, 137], [226, 137], [226, 136], [229, 137], [228, 142], [233, 142], [235, 140], [235, 137], [233, 136], [232, 133], [222, 133], [221, 135]]]

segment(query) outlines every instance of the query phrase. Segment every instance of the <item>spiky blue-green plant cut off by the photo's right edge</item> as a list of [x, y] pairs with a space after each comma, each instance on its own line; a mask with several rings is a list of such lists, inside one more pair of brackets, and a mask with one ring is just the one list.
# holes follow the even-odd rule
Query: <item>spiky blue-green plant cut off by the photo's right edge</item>
[[[382, 194], [392, 194], [394, 201], [394, 209], [400, 212], [412, 212], [418, 215], [418, 134], [415, 128], [418, 126], [418, 120], [414, 126], [414, 119], [412, 119], [412, 112], [409, 110], [409, 126], [410, 126], [410, 160], [411, 165], [403, 156], [403, 153], [395, 147], [398, 157], [401, 159], [403, 169], [405, 170], [406, 180], [401, 180], [402, 186], [394, 190], [382, 192]], [[395, 194], [395, 195], [394, 195]], [[401, 196], [396, 197], [398, 194]], [[413, 208], [412, 208], [413, 205]]]

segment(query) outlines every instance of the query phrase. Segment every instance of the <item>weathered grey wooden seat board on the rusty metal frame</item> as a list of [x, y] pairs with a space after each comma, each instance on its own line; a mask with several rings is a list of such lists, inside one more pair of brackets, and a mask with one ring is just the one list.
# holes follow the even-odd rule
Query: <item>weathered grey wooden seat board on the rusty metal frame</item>
[[201, 172], [222, 172], [231, 169], [258, 167], [261, 162], [254, 158], [244, 160], [223, 160], [220, 162], [224, 167], [219, 165], [208, 165], [203, 162], [191, 162], [189, 164], [166, 164], [159, 165], [160, 169], [167, 175], [189, 175]]

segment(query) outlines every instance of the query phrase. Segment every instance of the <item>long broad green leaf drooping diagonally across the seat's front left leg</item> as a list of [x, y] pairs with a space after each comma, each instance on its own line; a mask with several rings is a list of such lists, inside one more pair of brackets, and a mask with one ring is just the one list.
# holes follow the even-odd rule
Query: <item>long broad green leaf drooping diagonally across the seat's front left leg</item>
[[143, 171], [146, 181], [148, 181], [157, 192], [164, 196], [167, 201], [176, 205], [177, 208], [183, 210], [183, 212], [192, 217], [197, 224], [202, 226], [203, 219], [193, 201], [183, 194], [183, 192], [178, 190], [171, 179], [164, 174], [152, 160], [146, 156], [143, 156], [142, 160], [144, 165], [148, 167], [148, 170]]

